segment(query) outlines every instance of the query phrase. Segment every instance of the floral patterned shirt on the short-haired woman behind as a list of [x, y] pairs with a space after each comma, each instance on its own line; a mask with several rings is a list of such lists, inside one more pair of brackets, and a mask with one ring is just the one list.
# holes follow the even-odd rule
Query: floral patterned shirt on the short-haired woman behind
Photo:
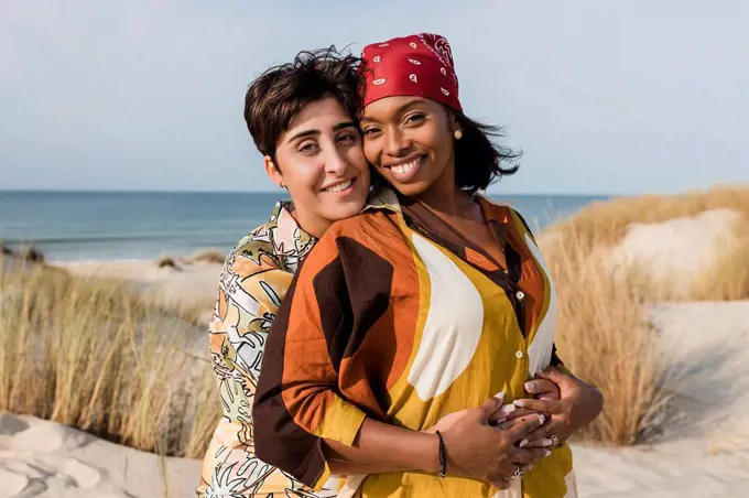
[[208, 334], [224, 416], [203, 462], [200, 498], [336, 496], [327, 486], [313, 491], [254, 454], [252, 401], [265, 339], [292, 275], [316, 242], [291, 209], [290, 202], [279, 203], [224, 264]]

